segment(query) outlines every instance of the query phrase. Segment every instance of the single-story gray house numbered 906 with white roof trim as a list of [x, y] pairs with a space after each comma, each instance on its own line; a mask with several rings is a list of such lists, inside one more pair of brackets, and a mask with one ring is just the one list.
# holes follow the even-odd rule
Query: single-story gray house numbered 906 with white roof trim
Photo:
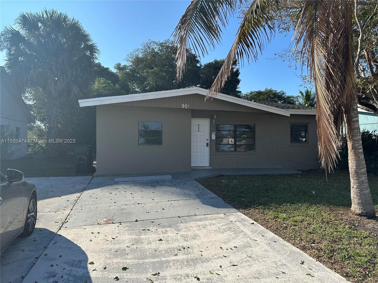
[[79, 100], [96, 106], [96, 174], [320, 168], [316, 109], [194, 87]]

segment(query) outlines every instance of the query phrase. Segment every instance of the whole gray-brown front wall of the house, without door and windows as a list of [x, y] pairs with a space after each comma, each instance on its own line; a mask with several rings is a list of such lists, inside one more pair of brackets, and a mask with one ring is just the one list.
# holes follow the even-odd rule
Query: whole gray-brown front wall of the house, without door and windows
[[[217, 123], [255, 124], [255, 152], [215, 152], [212, 168], [319, 168], [315, 115], [290, 117], [262, 112], [204, 111], [138, 106], [97, 106], [96, 174], [179, 172], [191, 170], [191, 118]], [[138, 122], [163, 122], [162, 146], [138, 146]], [[308, 144], [290, 144], [290, 123], [308, 125]]]

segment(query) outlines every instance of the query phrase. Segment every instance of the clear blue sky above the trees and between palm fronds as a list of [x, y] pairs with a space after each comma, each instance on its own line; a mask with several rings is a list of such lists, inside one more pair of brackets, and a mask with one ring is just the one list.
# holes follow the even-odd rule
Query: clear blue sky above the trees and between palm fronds
[[[124, 63], [125, 55], [149, 39], [169, 38], [184, 13], [189, 1], [6, 1], [0, 2], [0, 25], [12, 25], [20, 12], [36, 12], [54, 8], [79, 19], [97, 43], [102, 65], [113, 69], [115, 63]], [[204, 58], [202, 63], [225, 58], [235, 40], [240, 19], [231, 20], [223, 34], [222, 45]], [[296, 95], [302, 80], [299, 71], [288, 68], [287, 62], [271, 60], [275, 53], [287, 48], [291, 36], [276, 34], [273, 42], [260, 55], [257, 63], [241, 70], [240, 90], [247, 92], [265, 88], [283, 90]], [[0, 64], [3, 65], [3, 52]], [[296, 72], [296, 73], [294, 73]]]

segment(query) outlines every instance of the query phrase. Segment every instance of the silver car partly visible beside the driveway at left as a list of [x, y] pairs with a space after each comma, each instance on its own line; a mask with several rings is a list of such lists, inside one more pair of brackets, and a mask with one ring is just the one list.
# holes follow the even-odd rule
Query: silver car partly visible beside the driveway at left
[[28, 237], [37, 221], [37, 189], [22, 172], [8, 169], [0, 173], [0, 244], [1, 254], [17, 236]]

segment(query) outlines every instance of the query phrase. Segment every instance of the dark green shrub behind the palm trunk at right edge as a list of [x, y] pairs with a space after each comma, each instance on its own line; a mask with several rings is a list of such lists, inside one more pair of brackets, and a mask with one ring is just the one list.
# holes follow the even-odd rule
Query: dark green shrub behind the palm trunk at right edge
[[[366, 171], [378, 175], [378, 133], [368, 130], [361, 131], [362, 148], [366, 162]], [[346, 143], [340, 149], [339, 169], [349, 169], [348, 146]]]

